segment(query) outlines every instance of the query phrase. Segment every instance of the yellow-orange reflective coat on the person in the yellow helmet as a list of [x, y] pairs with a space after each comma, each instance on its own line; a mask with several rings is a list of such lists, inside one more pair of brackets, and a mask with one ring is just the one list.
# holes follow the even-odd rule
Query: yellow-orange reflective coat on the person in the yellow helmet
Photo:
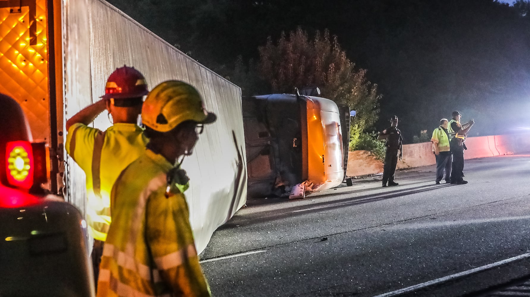
[[118, 177], [98, 297], [210, 296], [185, 196], [176, 184], [167, 187], [172, 167], [147, 149]]

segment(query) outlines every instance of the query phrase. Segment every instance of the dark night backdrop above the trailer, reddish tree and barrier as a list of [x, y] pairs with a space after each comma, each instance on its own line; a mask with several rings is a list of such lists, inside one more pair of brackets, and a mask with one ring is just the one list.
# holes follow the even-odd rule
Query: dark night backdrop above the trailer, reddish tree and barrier
[[277, 40], [298, 26], [310, 34], [329, 29], [383, 94], [374, 128], [396, 114], [407, 142], [454, 110], [465, 121], [475, 119], [473, 135], [530, 129], [530, 13], [522, 16], [513, 6], [493, 0], [109, 1], [223, 76], [232, 76], [239, 55], [259, 59], [268, 36]]

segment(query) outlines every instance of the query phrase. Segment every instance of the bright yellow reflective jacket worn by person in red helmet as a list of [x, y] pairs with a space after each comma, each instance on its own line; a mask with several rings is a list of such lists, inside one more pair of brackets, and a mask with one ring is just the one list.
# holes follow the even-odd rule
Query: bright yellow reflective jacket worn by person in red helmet
[[82, 123], [66, 134], [66, 152], [86, 174], [86, 223], [105, 241], [111, 222], [110, 191], [121, 171], [145, 151], [147, 138], [136, 124], [116, 123], [104, 132]]

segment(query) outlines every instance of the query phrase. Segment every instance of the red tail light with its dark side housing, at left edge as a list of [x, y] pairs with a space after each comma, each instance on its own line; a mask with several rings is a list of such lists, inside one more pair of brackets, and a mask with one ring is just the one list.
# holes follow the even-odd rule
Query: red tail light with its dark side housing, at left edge
[[10, 185], [30, 189], [47, 181], [45, 143], [7, 142], [5, 157], [7, 182]]

